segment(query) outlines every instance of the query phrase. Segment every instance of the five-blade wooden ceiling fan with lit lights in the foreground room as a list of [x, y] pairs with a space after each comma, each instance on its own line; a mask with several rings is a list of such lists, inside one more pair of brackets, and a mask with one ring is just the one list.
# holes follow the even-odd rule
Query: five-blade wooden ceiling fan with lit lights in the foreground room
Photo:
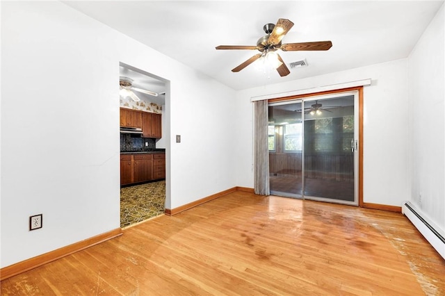
[[325, 51], [332, 47], [330, 41], [318, 41], [318, 42], [300, 42], [300, 43], [286, 43], [282, 44], [281, 40], [286, 33], [292, 28], [293, 22], [289, 19], [278, 19], [277, 24], [265, 24], [263, 27], [266, 35], [259, 38], [257, 45], [244, 46], [244, 45], [219, 45], [216, 49], [257, 49], [260, 54], [256, 54], [249, 58], [238, 67], [232, 69], [232, 72], [239, 72], [255, 60], [264, 59], [268, 60], [275, 69], [277, 69], [280, 76], [286, 76], [289, 73], [289, 68], [286, 67], [279, 54], [275, 53], [278, 49], [282, 51]]

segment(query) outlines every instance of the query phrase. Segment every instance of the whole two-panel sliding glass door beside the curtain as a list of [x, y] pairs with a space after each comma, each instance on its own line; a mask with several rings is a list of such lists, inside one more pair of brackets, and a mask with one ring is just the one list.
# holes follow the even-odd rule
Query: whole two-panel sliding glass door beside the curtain
[[357, 204], [356, 108], [355, 92], [270, 104], [271, 194]]

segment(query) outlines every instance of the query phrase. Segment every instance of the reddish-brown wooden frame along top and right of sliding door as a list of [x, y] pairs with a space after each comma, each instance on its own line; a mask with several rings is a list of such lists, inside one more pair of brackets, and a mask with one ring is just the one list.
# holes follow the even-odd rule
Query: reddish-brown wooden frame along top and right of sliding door
[[268, 103], [277, 103], [282, 101], [291, 101], [295, 99], [303, 99], [307, 97], [315, 97], [325, 94], [338, 94], [341, 92], [358, 91], [359, 94], [359, 180], [358, 180], [358, 206], [363, 207], [363, 86], [355, 86], [353, 88], [341, 88], [339, 90], [327, 90], [324, 92], [311, 92], [309, 94], [296, 94], [289, 97], [278, 97], [268, 99]]

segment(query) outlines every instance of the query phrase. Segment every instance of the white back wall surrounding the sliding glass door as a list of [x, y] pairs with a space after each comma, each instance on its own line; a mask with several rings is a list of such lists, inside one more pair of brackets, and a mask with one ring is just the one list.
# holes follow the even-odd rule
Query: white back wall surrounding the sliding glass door
[[[298, 69], [297, 69], [298, 71]], [[372, 79], [364, 87], [364, 202], [401, 206], [408, 195], [407, 60], [237, 92], [237, 184], [253, 187], [251, 97]]]

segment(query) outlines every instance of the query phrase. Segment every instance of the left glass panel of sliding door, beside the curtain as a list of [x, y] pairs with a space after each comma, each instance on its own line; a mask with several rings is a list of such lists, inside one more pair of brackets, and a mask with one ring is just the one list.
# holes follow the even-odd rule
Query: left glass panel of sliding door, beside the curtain
[[302, 197], [302, 103], [269, 106], [270, 192]]

